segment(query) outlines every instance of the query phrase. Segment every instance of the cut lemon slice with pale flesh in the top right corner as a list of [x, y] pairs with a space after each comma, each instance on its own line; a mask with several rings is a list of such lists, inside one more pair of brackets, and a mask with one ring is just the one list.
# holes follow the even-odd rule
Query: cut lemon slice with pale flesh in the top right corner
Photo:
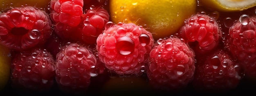
[[243, 11], [256, 6], [256, 0], [199, 0], [199, 3], [216, 11]]

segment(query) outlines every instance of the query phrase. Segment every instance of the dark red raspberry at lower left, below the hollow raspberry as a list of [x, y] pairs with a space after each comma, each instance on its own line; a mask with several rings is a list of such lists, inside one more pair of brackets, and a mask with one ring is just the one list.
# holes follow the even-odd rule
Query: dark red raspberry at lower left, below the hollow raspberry
[[16, 52], [12, 58], [11, 81], [14, 88], [35, 92], [49, 91], [54, 84], [56, 67], [46, 49], [34, 48]]

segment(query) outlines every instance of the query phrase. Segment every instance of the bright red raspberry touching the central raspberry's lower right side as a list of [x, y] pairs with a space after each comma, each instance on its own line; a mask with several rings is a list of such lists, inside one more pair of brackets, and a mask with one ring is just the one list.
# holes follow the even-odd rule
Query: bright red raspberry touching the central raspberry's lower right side
[[193, 79], [195, 54], [177, 37], [158, 39], [149, 56], [147, 76], [153, 89], [180, 91]]

